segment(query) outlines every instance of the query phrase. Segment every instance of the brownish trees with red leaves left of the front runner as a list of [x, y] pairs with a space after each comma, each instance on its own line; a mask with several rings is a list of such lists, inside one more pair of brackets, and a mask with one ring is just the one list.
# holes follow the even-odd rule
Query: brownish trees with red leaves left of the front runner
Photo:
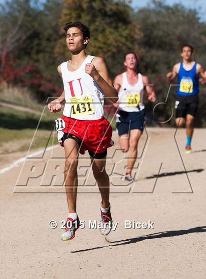
[[28, 86], [39, 101], [62, 90], [54, 56], [61, 37], [58, 31], [61, 3], [7, 0], [1, 5], [1, 81]]

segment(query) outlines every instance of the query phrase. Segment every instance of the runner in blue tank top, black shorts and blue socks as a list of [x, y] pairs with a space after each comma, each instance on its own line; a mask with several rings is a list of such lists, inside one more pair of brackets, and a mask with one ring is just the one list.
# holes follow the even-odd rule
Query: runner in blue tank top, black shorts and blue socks
[[178, 76], [178, 89], [176, 92], [176, 125], [186, 126], [185, 152], [191, 153], [191, 140], [194, 131], [193, 123], [199, 102], [199, 75], [201, 83], [206, 82], [206, 74], [203, 67], [192, 60], [193, 47], [184, 45], [181, 49], [182, 61], [173, 67], [173, 71], [167, 74], [169, 83]]

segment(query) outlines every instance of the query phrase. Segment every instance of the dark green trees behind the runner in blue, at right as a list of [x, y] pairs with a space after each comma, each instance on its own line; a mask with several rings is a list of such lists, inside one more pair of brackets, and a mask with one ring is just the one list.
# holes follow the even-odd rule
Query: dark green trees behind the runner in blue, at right
[[[149, 7], [134, 13], [132, 19], [140, 25], [143, 32], [139, 45], [142, 50], [139, 71], [147, 73], [155, 84], [158, 101], [165, 101], [169, 89], [166, 73], [172, 70], [174, 64], [180, 62], [182, 45], [192, 45], [195, 50], [194, 60], [206, 69], [206, 24], [200, 22], [195, 10], [187, 10], [180, 4], [170, 7], [154, 0]], [[163, 121], [171, 115], [176, 88], [171, 87], [167, 105], [160, 105], [156, 110], [158, 118]], [[200, 99], [196, 119], [196, 125], [199, 127], [205, 125], [203, 115], [206, 113], [206, 88], [203, 86]], [[146, 109], [148, 113], [152, 112], [152, 104], [148, 102]]]

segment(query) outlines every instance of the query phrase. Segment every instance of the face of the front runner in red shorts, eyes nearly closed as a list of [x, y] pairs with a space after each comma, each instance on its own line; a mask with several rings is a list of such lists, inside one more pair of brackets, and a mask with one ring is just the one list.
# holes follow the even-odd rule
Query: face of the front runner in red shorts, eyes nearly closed
[[70, 51], [81, 51], [88, 41], [88, 38], [84, 40], [83, 34], [79, 28], [71, 27], [67, 30], [66, 43]]

